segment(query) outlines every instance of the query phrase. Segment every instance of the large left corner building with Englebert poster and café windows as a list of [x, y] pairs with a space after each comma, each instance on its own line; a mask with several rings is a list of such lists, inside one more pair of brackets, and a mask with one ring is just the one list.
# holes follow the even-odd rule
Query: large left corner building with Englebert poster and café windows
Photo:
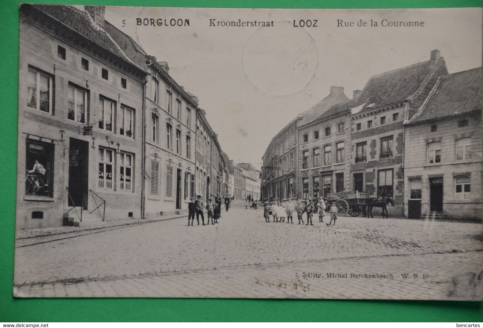
[[146, 72], [108, 36], [103, 13], [20, 7], [19, 229], [79, 223], [81, 208], [84, 223], [141, 216]]

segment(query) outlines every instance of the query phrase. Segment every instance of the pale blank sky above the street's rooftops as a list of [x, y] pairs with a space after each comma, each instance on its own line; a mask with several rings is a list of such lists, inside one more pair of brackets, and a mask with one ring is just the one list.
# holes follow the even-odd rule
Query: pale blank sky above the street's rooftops
[[[189, 26], [137, 25], [137, 18], [189, 19]], [[210, 26], [273, 21], [273, 27]], [[384, 27], [382, 20], [423, 27]], [[124, 31], [199, 98], [234, 163], [262, 164], [271, 138], [298, 113], [344, 87], [352, 99], [372, 75], [429, 60], [439, 49], [449, 73], [480, 67], [481, 8], [287, 10], [106, 7]], [[294, 27], [310, 20], [315, 27]], [[317, 20], [317, 23], [315, 23]], [[377, 22], [378, 26], [370, 26]], [[357, 26], [358, 22], [367, 26]], [[354, 26], [345, 27], [345, 23]], [[342, 26], [338, 26], [342, 25]]]

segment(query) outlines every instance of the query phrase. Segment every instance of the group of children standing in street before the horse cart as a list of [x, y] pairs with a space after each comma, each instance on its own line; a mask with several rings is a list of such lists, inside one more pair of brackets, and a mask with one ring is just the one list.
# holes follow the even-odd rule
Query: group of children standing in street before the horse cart
[[[326, 215], [326, 209], [327, 205], [324, 201], [324, 199], [320, 199], [319, 202], [314, 205], [309, 199], [306, 199], [305, 202], [302, 205], [302, 202], [298, 201], [297, 206], [294, 208], [294, 205], [289, 202], [285, 207], [282, 206], [280, 202], [278, 203], [269, 203], [265, 202], [264, 204], [264, 209], [263, 209], [263, 216], [265, 217], [265, 222], [270, 222], [270, 216], [273, 216], [273, 221], [272, 222], [285, 222], [285, 218], [287, 218], [287, 223], [294, 223], [293, 222], [293, 213], [297, 212], [297, 218], [298, 218], [298, 224], [304, 224], [303, 222], [303, 213], [307, 213], [307, 224], [305, 225], [313, 225], [312, 223], [312, 217], [314, 212], [319, 214], [319, 223], [324, 222], [324, 216]], [[337, 205], [332, 203], [329, 209], [330, 213], [330, 222], [326, 223], [327, 225], [331, 225], [332, 222], [335, 222], [337, 220], [337, 213], [339, 211], [339, 208]], [[280, 219], [280, 221], [279, 221]]]

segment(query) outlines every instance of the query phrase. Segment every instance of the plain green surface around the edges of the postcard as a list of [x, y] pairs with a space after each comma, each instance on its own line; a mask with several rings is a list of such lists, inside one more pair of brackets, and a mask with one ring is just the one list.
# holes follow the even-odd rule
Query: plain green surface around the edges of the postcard
[[[29, 2], [29, 1], [26, 1]], [[480, 0], [44, 0], [53, 4], [214, 8], [481, 7]], [[12, 296], [18, 97], [18, 0], [0, 7], [0, 322], [483, 321], [482, 302], [270, 299], [21, 299]]]

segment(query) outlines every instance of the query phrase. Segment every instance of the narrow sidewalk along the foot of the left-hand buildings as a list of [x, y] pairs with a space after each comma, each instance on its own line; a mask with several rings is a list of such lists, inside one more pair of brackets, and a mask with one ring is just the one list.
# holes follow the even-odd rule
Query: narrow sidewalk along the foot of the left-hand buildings
[[[96, 224], [92, 226], [89, 226], [89, 225], [80, 226], [80, 227], [56, 226], [56, 227], [48, 227], [48, 228], [41, 228], [41, 229], [21, 229], [15, 232], [15, 240], [50, 237], [50, 236], [58, 236], [59, 238], [65, 238], [70, 236], [70, 234], [78, 234], [85, 231], [97, 230], [100, 232], [114, 227], [148, 224], [148, 223], [153, 223], [158, 221], [173, 220], [173, 219], [179, 219], [179, 218], [185, 218], [185, 217], [188, 217], [187, 213], [177, 214], [177, 215], [157, 216], [149, 219], [129, 218], [129, 219], [106, 220], [102, 224]], [[60, 235], [65, 235], [65, 236], [60, 236]]]

